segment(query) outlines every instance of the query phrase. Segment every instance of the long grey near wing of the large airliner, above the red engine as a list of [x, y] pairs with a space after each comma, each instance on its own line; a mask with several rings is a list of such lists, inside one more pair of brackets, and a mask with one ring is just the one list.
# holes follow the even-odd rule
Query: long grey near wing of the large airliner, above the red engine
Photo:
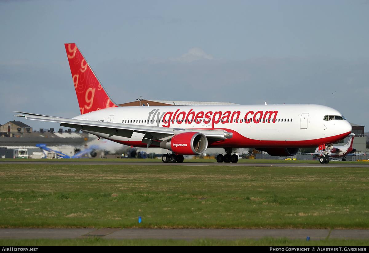
[[[31, 114], [27, 112], [18, 112], [21, 114], [14, 115], [18, 117], [24, 117], [26, 119], [38, 120], [38, 121], [49, 121], [58, 122], [63, 127], [76, 128], [76, 130], [96, 132], [108, 135], [104, 138], [109, 138], [113, 135], [123, 136], [131, 138], [134, 132], [145, 134], [142, 142], [151, 144], [153, 140], [163, 141], [170, 139], [173, 135], [180, 134], [183, 132], [199, 132], [204, 134], [208, 141], [223, 141], [224, 139], [232, 138], [232, 133], [226, 132], [221, 129], [217, 130], [206, 130], [206, 129], [184, 129], [184, 128], [169, 128], [169, 127], [154, 127], [154, 126], [143, 126], [143, 125], [132, 125], [123, 123], [113, 122], [100, 122], [100, 121], [88, 121], [82, 119], [69, 119], [53, 117], [41, 114]], [[147, 142], [145, 142], [145, 139]], [[151, 142], [150, 142], [151, 141]]]

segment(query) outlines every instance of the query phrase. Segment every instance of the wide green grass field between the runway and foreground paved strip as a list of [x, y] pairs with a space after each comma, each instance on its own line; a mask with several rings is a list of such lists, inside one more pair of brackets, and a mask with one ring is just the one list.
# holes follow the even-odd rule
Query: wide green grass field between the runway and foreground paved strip
[[367, 170], [0, 164], [0, 227], [369, 228]]

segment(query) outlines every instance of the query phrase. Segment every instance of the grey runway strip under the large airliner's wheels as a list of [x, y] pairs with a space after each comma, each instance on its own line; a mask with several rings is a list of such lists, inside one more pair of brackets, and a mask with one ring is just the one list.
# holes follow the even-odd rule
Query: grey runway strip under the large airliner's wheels
[[55, 161], [47, 160], [32, 161], [27, 160], [15, 160], [15, 161], [1, 161], [0, 164], [86, 164], [86, 165], [162, 165], [162, 166], [246, 166], [246, 167], [363, 167], [369, 168], [369, 163], [357, 164], [357, 163], [213, 163], [213, 162], [183, 162], [183, 163], [162, 163], [162, 162], [93, 162], [91, 159], [80, 159], [78, 161], [69, 162], [68, 159], [56, 159]]

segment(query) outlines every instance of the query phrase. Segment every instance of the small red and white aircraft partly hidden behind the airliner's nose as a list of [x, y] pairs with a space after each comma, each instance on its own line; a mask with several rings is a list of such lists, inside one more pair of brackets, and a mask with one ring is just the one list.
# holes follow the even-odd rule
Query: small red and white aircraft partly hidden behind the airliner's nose
[[369, 154], [354, 154], [356, 149], [352, 148], [352, 143], [354, 142], [355, 134], [350, 134], [350, 138], [346, 145], [344, 146], [332, 146], [328, 148], [325, 145], [320, 145], [315, 149], [314, 153], [300, 153], [309, 154], [319, 157], [320, 163], [329, 163], [329, 157], [343, 157], [342, 161], [345, 161], [346, 156], [367, 156]]

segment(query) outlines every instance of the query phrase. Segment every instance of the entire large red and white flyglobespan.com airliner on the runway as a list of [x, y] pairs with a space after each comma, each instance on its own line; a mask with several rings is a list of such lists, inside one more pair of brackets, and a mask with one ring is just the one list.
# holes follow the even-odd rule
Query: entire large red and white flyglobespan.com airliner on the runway
[[[300, 148], [332, 148], [351, 133], [342, 114], [323, 105], [207, 105], [118, 107], [111, 101], [75, 44], [65, 44], [81, 111], [72, 119], [21, 113], [20, 117], [59, 122], [111, 141], [172, 151], [163, 162], [183, 162], [207, 148], [224, 148], [217, 162], [237, 162], [233, 148], [256, 148], [274, 156]], [[325, 155], [323, 155], [325, 156]]]

